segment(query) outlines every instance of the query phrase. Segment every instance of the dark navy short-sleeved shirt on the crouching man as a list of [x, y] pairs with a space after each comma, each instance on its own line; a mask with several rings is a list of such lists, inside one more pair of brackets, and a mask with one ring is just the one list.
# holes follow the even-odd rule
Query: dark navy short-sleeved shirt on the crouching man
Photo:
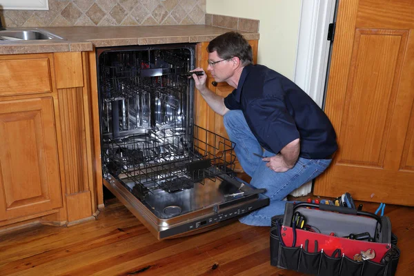
[[270, 152], [278, 153], [297, 138], [303, 158], [326, 159], [337, 150], [335, 130], [322, 109], [293, 81], [266, 66], [246, 66], [224, 104], [243, 111], [257, 141]]

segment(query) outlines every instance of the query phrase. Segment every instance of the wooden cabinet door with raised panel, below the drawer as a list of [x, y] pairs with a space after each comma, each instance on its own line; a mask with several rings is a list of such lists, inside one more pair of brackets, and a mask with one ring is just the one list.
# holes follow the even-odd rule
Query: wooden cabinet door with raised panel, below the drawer
[[52, 97], [0, 102], [0, 220], [61, 207]]

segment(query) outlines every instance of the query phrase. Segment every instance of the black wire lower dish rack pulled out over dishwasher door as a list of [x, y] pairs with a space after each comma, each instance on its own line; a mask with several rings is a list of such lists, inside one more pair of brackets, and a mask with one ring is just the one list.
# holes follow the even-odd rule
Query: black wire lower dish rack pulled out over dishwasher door
[[155, 190], [175, 193], [233, 172], [234, 146], [197, 125], [159, 127], [144, 134], [104, 139], [104, 173], [128, 183], [132, 194], [144, 200]]

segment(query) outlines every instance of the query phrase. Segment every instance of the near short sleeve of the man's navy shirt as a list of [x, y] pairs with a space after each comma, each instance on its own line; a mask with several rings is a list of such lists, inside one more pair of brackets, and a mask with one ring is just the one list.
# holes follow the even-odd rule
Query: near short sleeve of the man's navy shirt
[[291, 141], [299, 138], [295, 120], [286, 109], [283, 99], [263, 97], [249, 105], [250, 126], [255, 133], [276, 154]]

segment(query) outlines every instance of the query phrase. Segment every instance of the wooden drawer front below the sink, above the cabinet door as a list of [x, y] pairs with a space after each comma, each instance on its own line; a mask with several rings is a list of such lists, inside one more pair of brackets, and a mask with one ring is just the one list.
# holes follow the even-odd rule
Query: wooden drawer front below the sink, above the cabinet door
[[47, 57], [0, 60], [0, 96], [51, 91]]

